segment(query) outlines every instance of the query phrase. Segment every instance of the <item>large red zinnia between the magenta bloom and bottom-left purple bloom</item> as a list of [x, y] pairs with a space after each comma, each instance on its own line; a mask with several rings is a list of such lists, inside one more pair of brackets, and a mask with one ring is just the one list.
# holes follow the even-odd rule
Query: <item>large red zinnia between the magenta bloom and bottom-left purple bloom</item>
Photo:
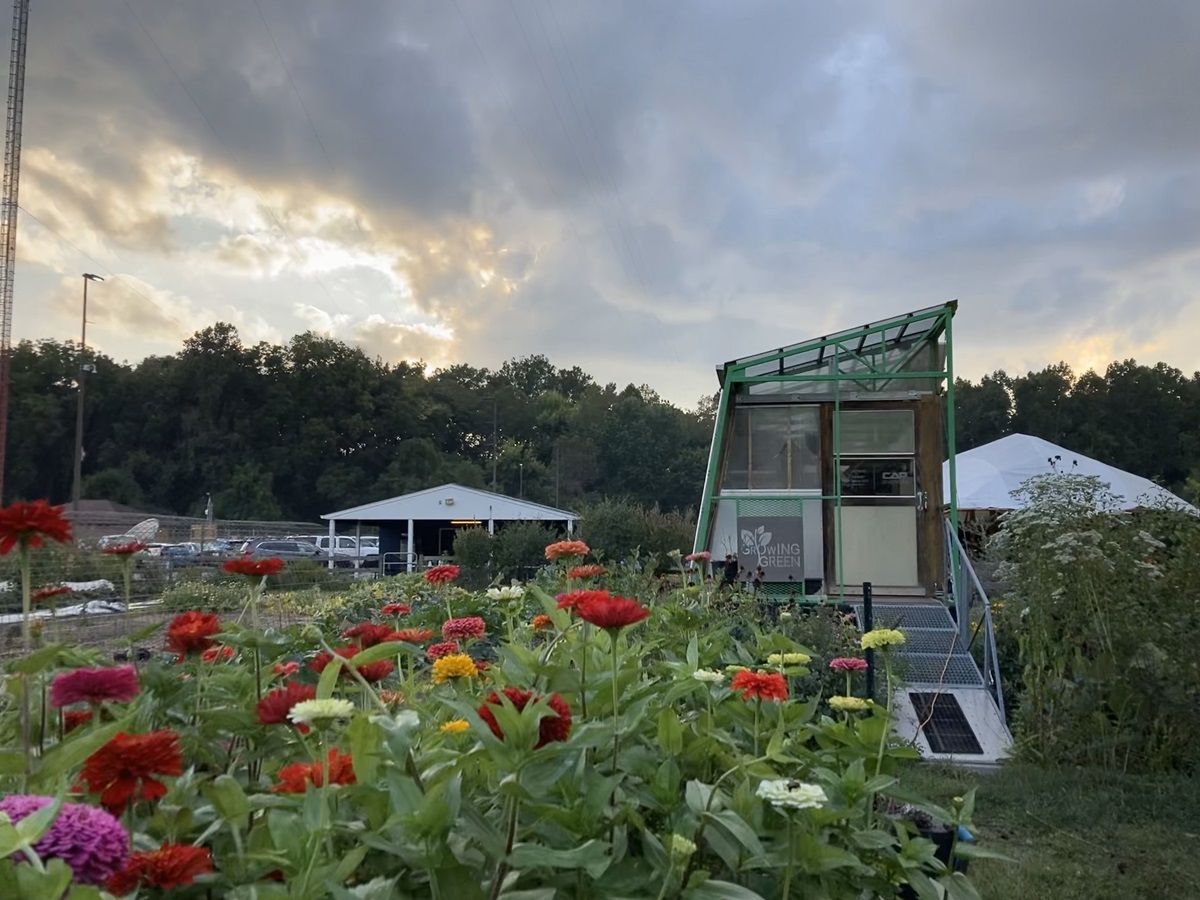
[[179, 734], [173, 731], [120, 732], [88, 757], [79, 781], [88, 785], [90, 793], [98, 793], [100, 804], [115, 815], [130, 800], [157, 800], [167, 794], [167, 786], [154, 775], [182, 774]]

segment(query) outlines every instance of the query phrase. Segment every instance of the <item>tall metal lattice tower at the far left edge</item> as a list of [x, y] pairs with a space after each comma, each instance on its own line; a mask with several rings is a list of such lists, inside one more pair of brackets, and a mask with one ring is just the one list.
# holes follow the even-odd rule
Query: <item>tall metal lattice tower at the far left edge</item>
[[8, 389], [12, 367], [12, 280], [17, 266], [17, 193], [20, 186], [20, 127], [25, 118], [25, 42], [29, 0], [12, 4], [12, 52], [8, 59], [8, 118], [4, 140], [4, 191], [0, 193], [0, 502], [8, 446]]

